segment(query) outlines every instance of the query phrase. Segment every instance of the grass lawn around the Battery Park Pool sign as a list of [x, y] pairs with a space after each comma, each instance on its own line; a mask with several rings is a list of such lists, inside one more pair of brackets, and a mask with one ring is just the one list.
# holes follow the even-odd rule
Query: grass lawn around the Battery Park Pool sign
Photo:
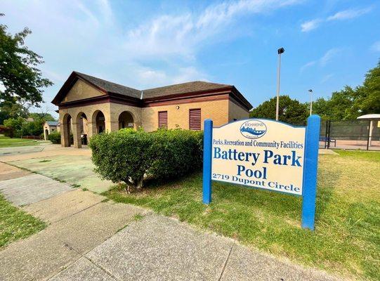
[[301, 228], [301, 198], [213, 183], [213, 202], [202, 204], [202, 175], [148, 184], [127, 195], [105, 192], [248, 247], [306, 266], [362, 280], [380, 280], [380, 152], [336, 150], [320, 155], [315, 231]]

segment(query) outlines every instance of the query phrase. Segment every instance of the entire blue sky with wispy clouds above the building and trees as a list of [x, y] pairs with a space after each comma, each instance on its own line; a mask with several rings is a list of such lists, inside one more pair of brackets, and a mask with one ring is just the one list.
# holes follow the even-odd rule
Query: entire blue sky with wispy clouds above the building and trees
[[[136, 89], [192, 80], [233, 84], [256, 106], [281, 94], [308, 100], [357, 86], [380, 58], [379, 1], [15, 1], [1, 23], [30, 27], [55, 94], [72, 70]], [[37, 110], [38, 111], [38, 110]]]

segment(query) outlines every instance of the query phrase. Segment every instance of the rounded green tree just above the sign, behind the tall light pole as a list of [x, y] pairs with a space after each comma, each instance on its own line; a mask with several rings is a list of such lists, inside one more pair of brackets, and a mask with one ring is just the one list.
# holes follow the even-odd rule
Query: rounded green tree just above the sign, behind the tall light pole
[[[275, 119], [276, 97], [270, 98], [249, 112], [249, 117]], [[308, 107], [289, 96], [280, 96], [279, 119], [282, 122], [305, 121], [308, 117]]]

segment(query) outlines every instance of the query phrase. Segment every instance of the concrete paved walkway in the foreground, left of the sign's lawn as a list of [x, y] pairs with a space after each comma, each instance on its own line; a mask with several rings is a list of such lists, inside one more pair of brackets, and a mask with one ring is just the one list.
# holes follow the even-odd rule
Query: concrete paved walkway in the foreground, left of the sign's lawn
[[[0, 171], [6, 178], [0, 186], [31, 176], [6, 164]], [[38, 185], [34, 178], [37, 194], [45, 189], [40, 179]], [[22, 207], [49, 225], [0, 250], [0, 280], [336, 280], [173, 218], [55, 184], [62, 192]]]

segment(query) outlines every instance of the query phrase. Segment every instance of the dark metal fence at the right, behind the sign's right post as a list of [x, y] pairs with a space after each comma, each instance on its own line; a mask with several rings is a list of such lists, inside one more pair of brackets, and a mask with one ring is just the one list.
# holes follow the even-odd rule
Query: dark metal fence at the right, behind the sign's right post
[[[306, 126], [306, 122], [289, 122]], [[380, 150], [380, 120], [321, 120], [320, 148]]]

